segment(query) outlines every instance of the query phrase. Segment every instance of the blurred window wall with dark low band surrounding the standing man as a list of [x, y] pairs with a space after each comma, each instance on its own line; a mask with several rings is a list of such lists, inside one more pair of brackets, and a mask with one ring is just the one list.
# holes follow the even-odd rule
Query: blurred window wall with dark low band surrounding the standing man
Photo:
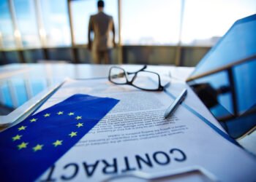
[[[112, 64], [195, 66], [256, 0], [105, 0]], [[87, 49], [96, 0], [0, 0], [0, 64], [93, 63]]]

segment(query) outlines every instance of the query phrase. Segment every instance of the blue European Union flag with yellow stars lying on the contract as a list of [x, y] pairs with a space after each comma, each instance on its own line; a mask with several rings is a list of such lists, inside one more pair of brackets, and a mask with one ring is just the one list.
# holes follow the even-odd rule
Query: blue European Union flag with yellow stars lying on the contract
[[118, 100], [73, 95], [0, 133], [0, 181], [34, 181]]

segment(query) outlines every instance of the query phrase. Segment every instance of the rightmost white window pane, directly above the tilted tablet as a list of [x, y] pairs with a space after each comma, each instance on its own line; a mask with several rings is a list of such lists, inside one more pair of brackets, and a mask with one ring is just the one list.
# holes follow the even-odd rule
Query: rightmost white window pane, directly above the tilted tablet
[[236, 20], [255, 12], [255, 0], [187, 0], [181, 42], [212, 46]]

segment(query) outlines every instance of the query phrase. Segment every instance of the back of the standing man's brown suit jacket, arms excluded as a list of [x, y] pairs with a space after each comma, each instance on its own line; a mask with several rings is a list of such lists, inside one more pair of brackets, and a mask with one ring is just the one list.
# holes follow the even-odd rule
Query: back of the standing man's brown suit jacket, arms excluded
[[99, 12], [91, 15], [89, 30], [94, 31], [93, 50], [108, 50], [113, 47], [110, 31], [113, 31], [113, 17]]

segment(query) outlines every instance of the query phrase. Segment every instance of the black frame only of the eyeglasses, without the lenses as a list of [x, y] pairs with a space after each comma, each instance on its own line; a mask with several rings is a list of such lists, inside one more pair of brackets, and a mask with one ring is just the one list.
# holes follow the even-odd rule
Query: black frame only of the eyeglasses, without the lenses
[[[119, 68], [119, 69], [123, 70], [123, 71], [124, 71], [124, 77], [125, 77], [125, 79], [127, 80], [127, 82], [126, 82], [126, 83], [116, 83], [116, 82], [113, 82], [113, 81], [110, 79], [110, 73], [111, 73], [111, 69], [112, 69], [112, 68]], [[138, 89], [140, 89], [140, 90], [145, 90], [145, 91], [163, 91], [163, 90], [164, 90], [164, 87], [161, 85], [161, 79], [160, 79], [159, 74], [157, 74], [156, 72], [153, 72], [153, 71], [146, 71], [146, 70], [145, 70], [146, 68], [147, 68], [147, 66], [144, 65], [143, 68], [140, 68], [140, 70], [138, 70], [138, 71], [128, 72], [128, 71], [125, 71], [124, 68], [121, 68], [121, 67], [119, 67], [119, 66], [111, 66], [111, 68], [110, 68], [110, 70], [109, 70], [109, 72], [108, 72], [108, 80], [109, 80], [110, 82], [112, 82], [113, 84], [128, 84], [128, 85], [130, 85], [130, 86], [132, 86], [132, 87], [136, 87], [136, 88], [138, 88]], [[136, 86], [135, 84], [132, 84], [132, 82], [134, 82], [134, 80], [136, 79], [137, 74], [138, 74], [139, 72], [148, 72], [148, 73], [151, 73], [151, 74], [157, 74], [158, 83], [159, 83], [159, 84], [158, 84], [158, 88], [157, 88], [157, 89], [154, 89], [154, 90], [152, 90], [152, 89], [145, 89], [145, 88], [138, 87], [138, 86]], [[130, 74], [135, 74], [135, 76], [132, 77], [131, 81], [128, 80], [128, 75], [130, 75]]]

